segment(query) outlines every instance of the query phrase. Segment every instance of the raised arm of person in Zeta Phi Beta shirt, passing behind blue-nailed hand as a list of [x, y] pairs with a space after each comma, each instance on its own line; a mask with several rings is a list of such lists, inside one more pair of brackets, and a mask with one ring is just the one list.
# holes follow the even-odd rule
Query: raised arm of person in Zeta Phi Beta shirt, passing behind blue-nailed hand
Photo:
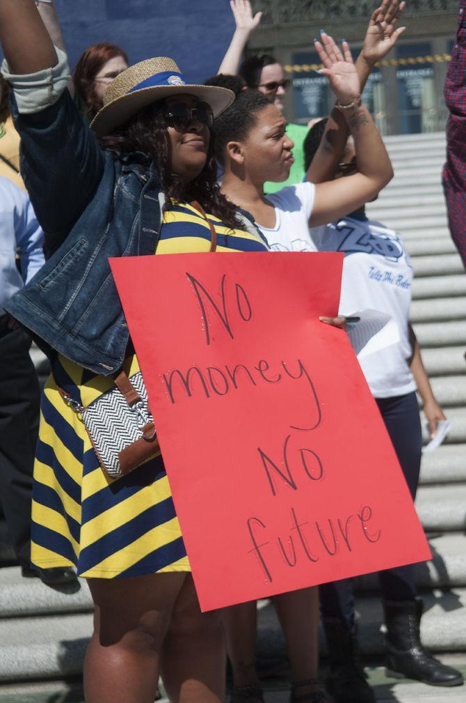
[[[396, 29], [397, 21], [404, 11], [406, 3], [399, 0], [383, 0], [379, 8], [373, 11], [369, 20], [364, 44], [355, 66], [359, 78], [359, 91], [362, 93], [366, 81], [375, 64], [391, 51], [397, 39], [406, 27]], [[328, 37], [323, 32], [321, 43]], [[317, 44], [316, 44], [317, 46]], [[312, 163], [307, 169], [306, 178], [311, 183], [330, 181], [342, 157], [349, 136], [349, 128], [341, 110], [333, 108], [328, 118], [326, 129]]]

